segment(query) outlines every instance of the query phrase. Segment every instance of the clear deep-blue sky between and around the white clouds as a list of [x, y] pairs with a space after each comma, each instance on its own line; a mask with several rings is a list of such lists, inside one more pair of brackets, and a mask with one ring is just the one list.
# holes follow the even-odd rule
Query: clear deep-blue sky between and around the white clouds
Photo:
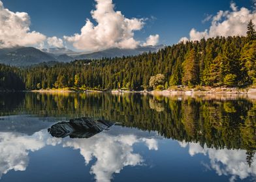
[[[31, 19], [31, 31], [47, 37], [72, 36], [80, 33], [86, 18], [97, 4], [94, 0], [1, 0], [3, 6], [12, 12], [27, 12]], [[233, 1], [253, 10], [253, 1]], [[125, 18], [144, 18], [144, 26], [134, 31], [135, 40], [145, 41], [151, 34], [159, 34], [158, 44], [176, 44], [180, 38], [189, 37], [192, 28], [197, 31], [209, 29], [211, 20], [202, 22], [219, 10], [231, 10], [231, 1], [167, 1], [167, 0], [113, 0], [114, 10], [120, 10]], [[96, 25], [96, 24], [95, 24]]]

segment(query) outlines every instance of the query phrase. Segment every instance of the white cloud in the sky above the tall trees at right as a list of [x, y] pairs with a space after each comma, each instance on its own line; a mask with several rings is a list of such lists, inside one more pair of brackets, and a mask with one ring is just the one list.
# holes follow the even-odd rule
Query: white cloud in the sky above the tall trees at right
[[212, 23], [209, 29], [204, 31], [191, 29], [189, 40], [194, 41], [216, 36], [245, 36], [246, 25], [249, 20], [252, 19], [253, 23], [256, 23], [256, 12], [245, 7], [238, 9], [235, 3], [231, 3], [231, 10], [219, 10], [216, 16], [211, 19]]

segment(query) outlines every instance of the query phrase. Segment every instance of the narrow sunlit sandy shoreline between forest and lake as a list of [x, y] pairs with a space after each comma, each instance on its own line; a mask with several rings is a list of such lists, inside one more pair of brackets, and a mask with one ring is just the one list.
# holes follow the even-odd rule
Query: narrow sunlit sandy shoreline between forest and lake
[[[2, 92], [5, 92], [4, 90]], [[122, 94], [122, 93], [138, 93], [138, 94], [163, 94], [163, 95], [192, 95], [192, 94], [256, 94], [256, 88], [210, 88], [203, 87], [202, 89], [196, 88], [175, 88], [167, 90], [142, 90], [142, 91], [131, 91], [131, 90], [79, 90], [74, 88], [63, 88], [63, 89], [45, 89], [45, 90], [24, 90], [22, 92], [46, 92], [46, 93], [112, 93], [112, 94]]]

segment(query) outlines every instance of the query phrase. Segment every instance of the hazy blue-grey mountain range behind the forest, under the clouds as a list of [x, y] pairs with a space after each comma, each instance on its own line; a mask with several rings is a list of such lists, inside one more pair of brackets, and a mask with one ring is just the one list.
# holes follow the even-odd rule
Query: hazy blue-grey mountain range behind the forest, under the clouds
[[0, 63], [10, 66], [31, 66], [42, 62], [71, 62], [80, 59], [102, 59], [155, 52], [164, 45], [137, 47], [136, 49], [111, 48], [95, 53], [74, 52], [67, 48], [36, 49], [35, 47], [11, 47], [0, 49]]

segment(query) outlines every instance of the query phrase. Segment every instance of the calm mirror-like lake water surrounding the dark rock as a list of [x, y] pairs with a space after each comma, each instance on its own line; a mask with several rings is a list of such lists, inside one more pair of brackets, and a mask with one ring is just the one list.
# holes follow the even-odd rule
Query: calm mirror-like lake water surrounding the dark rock
[[[256, 181], [256, 99], [0, 94], [0, 182]], [[118, 122], [56, 138], [57, 122]]]

